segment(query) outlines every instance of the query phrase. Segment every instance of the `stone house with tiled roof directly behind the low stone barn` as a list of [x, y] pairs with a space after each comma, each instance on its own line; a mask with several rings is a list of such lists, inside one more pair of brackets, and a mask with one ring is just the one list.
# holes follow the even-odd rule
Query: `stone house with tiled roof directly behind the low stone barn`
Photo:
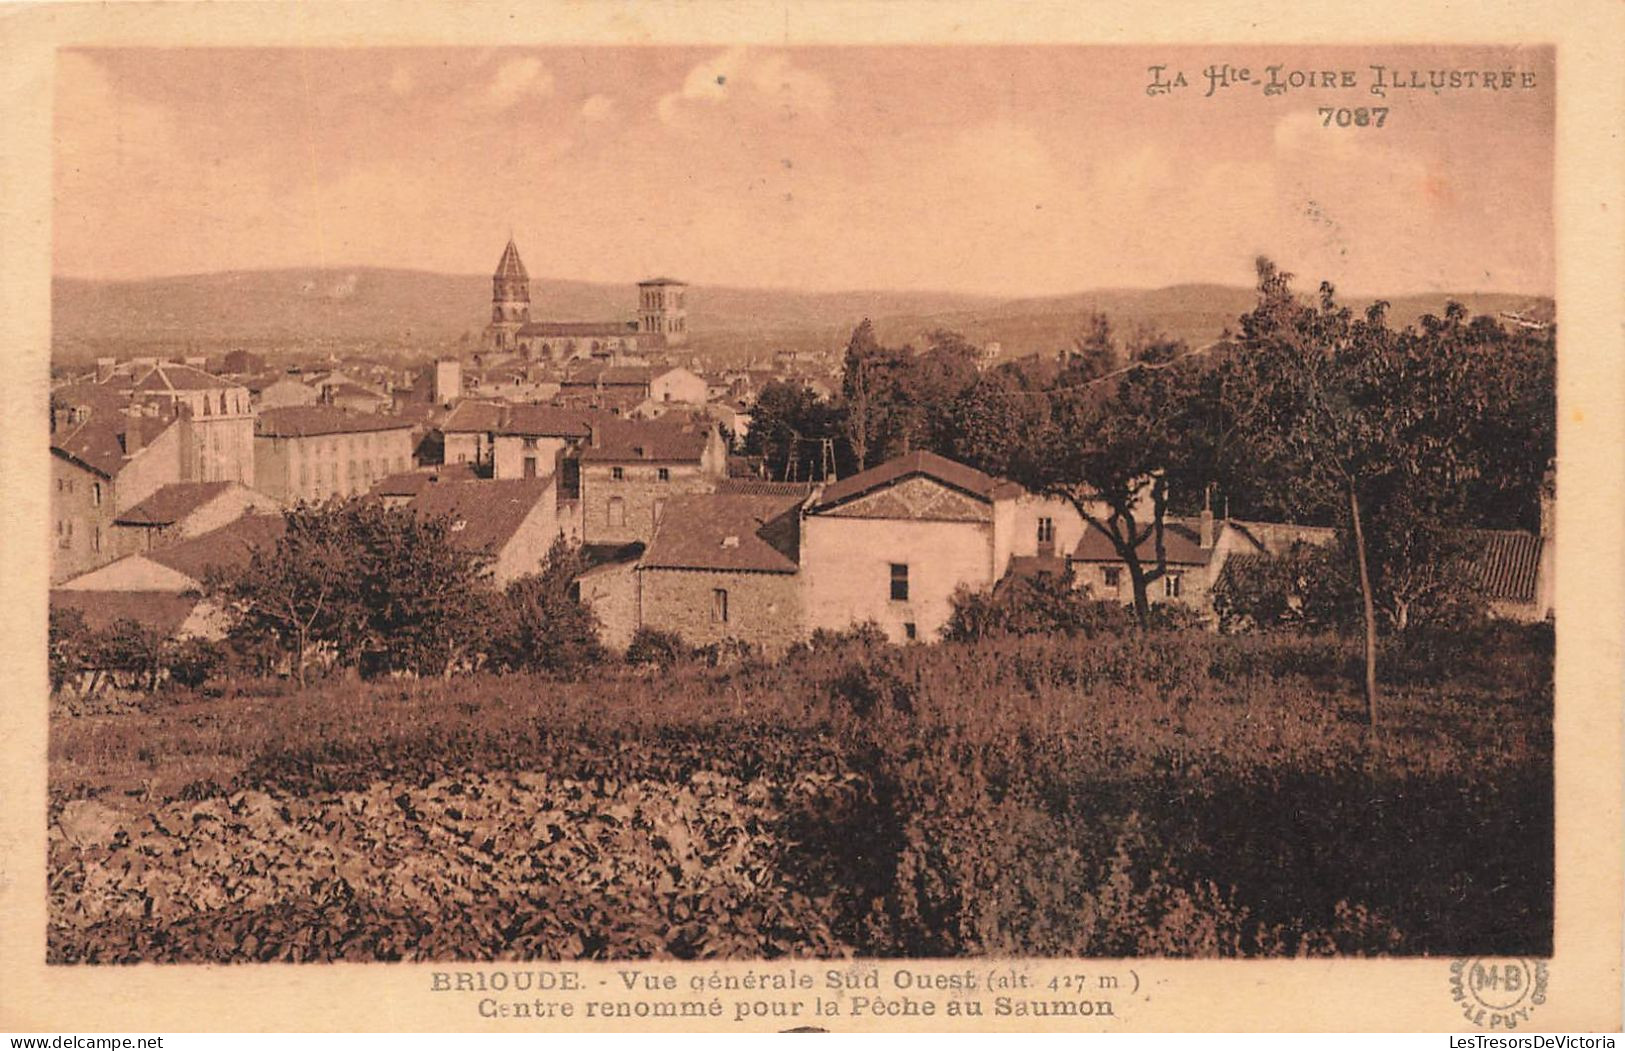
[[600, 419], [578, 456], [582, 531], [593, 544], [650, 543], [668, 500], [713, 492], [728, 476], [715, 424]]

